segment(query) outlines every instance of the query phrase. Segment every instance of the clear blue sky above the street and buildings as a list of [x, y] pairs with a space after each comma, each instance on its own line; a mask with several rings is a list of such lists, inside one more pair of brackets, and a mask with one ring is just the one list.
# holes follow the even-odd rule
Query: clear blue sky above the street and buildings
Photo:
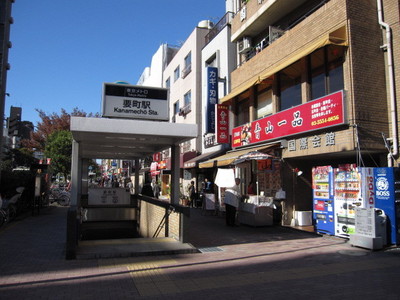
[[17, 0], [12, 7], [5, 116], [101, 110], [103, 82], [136, 84], [162, 43], [178, 45], [224, 0]]

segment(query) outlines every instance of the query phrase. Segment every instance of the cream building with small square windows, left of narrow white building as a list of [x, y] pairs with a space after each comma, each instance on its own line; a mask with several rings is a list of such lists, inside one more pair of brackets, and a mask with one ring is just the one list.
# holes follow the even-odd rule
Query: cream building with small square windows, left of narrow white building
[[[163, 87], [169, 88], [171, 122], [203, 126], [201, 49], [211, 27], [210, 21], [199, 22], [163, 72]], [[193, 178], [190, 172], [183, 170], [184, 163], [201, 153], [201, 135], [180, 145], [180, 148], [182, 186], [185, 187]], [[168, 158], [169, 151], [165, 151], [162, 159], [166, 161], [166, 169], [170, 169]], [[162, 182], [167, 182], [167, 179], [163, 178]]]

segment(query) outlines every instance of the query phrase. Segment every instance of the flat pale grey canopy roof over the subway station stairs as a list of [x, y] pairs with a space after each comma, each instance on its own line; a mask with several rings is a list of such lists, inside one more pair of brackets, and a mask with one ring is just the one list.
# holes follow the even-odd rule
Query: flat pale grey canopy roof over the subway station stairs
[[196, 124], [71, 117], [80, 158], [140, 159], [196, 138]]

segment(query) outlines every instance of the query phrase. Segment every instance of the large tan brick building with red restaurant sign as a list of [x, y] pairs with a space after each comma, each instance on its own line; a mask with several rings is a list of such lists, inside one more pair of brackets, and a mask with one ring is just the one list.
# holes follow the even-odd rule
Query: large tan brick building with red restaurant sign
[[237, 67], [220, 103], [234, 116], [234, 151], [201, 168], [227, 167], [254, 149], [270, 154], [268, 166], [237, 170], [244, 186], [256, 180], [266, 195], [285, 191], [288, 225], [294, 210], [312, 210], [313, 166], [398, 165], [399, 1], [234, 0], [232, 7]]

